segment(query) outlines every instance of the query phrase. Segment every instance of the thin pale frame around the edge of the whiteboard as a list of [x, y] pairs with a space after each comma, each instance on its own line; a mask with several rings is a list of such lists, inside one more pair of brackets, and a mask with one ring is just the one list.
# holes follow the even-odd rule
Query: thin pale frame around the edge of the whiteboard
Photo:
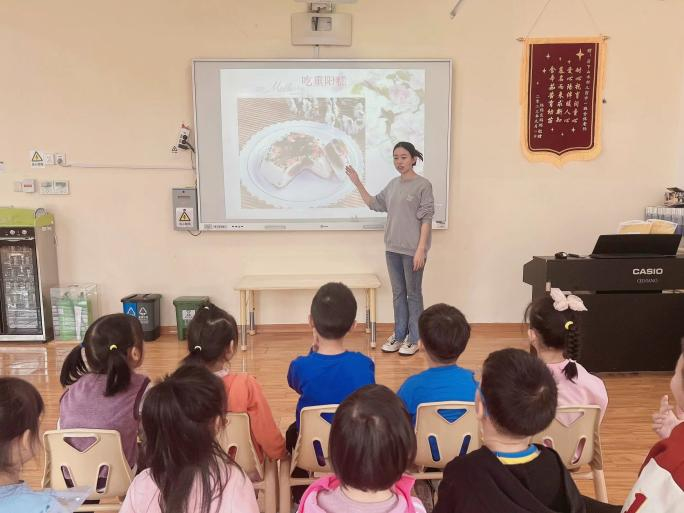
[[326, 62], [401, 62], [401, 63], [425, 63], [425, 62], [445, 62], [449, 67], [449, 98], [448, 109], [449, 115], [447, 117], [447, 156], [446, 156], [446, 199], [444, 206], [444, 221], [432, 221], [433, 230], [446, 230], [449, 227], [449, 192], [450, 192], [450, 174], [451, 174], [451, 125], [452, 125], [452, 97], [453, 97], [453, 62], [451, 59], [193, 59], [192, 60], [192, 107], [193, 107], [193, 122], [194, 128], [193, 136], [195, 143], [195, 174], [197, 180], [197, 219], [199, 222], [200, 231], [363, 231], [363, 230], [384, 230], [386, 221], [384, 218], [377, 220], [367, 219], [366, 223], [358, 221], [331, 221], [327, 224], [320, 222], [294, 221], [289, 220], [283, 223], [265, 222], [265, 221], [241, 221], [239, 223], [206, 223], [202, 219], [202, 195], [200, 194], [200, 152], [198, 139], [198, 125], [197, 125], [197, 88], [195, 84], [195, 65], [197, 63], [205, 62], [302, 62], [302, 63], [326, 63]]

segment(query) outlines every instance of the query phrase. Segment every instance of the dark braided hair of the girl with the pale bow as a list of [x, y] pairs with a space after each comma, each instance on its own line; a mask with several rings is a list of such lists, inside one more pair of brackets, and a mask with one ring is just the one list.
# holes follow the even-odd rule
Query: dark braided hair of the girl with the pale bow
[[563, 374], [570, 381], [574, 381], [577, 377], [575, 361], [579, 360], [582, 353], [578, 312], [570, 308], [559, 312], [553, 303], [553, 298], [549, 295], [537, 298], [528, 305], [525, 319], [529, 322], [530, 329], [539, 334], [542, 344], [553, 349], [561, 349], [565, 358], [573, 360], [563, 367]]

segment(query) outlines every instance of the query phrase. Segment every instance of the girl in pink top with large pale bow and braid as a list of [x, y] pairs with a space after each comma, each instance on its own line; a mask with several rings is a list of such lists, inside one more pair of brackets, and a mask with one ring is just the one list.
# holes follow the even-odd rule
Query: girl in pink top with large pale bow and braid
[[[577, 296], [566, 296], [560, 289], [551, 289], [528, 307], [526, 318], [531, 350], [548, 366], [558, 385], [558, 406], [596, 405], [601, 419], [608, 406], [608, 393], [601, 378], [590, 374], [577, 363], [582, 348], [578, 326], [580, 312], [586, 307]], [[558, 419], [570, 424], [571, 419]]]

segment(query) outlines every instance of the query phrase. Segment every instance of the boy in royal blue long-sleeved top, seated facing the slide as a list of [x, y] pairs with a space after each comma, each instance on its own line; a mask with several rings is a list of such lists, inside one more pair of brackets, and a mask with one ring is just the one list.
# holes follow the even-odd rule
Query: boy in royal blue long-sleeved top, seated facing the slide
[[299, 412], [306, 406], [339, 404], [357, 389], [375, 383], [375, 365], [367, 356], [344, 349], [344, 337], [356, 324], [356, 299], [342, 283], [326, 283], [313, 298], [309, 325], [313, 344], [292, 360], [287, 383], [299, 394], [297, 420], [286, 435], [292, 452], [299, 434]]

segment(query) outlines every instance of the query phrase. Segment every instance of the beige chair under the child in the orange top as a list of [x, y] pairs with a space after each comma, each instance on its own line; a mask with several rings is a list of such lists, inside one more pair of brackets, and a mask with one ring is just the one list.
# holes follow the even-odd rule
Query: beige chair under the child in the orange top
[[264, 494], [265, 513], [276, 513], [278, 500], [278, 470], [275, 461], [268, 457], [259, 461], [252, 443], [249, 415], [228, 413], [226, 427], [218, 436], [221, 447], [250, 476], [257, 492]]

